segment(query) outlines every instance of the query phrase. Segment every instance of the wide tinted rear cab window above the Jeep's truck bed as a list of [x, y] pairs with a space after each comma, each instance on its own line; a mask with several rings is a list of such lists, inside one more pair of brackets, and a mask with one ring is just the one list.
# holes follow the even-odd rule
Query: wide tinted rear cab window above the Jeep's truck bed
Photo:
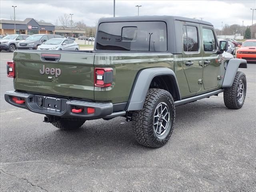
[[163, 21], [101, 23], [96, 42], [97, 50], [166, 52], [166, 23]]

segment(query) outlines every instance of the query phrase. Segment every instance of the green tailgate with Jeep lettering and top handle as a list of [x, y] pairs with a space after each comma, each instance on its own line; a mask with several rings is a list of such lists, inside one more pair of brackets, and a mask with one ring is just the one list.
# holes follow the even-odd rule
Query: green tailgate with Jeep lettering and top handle
[[94, 100], [94, 53], [14, 52], [14, 88]]

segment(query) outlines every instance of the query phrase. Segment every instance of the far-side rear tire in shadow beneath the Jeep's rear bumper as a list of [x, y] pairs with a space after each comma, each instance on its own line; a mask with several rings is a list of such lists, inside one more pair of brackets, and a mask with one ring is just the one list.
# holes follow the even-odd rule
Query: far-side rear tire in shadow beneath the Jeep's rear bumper
[[84, 122], [85, 120], [79, 118], [59, 118], [51, 124], [62, 130], [74, 130], [80, 128]]

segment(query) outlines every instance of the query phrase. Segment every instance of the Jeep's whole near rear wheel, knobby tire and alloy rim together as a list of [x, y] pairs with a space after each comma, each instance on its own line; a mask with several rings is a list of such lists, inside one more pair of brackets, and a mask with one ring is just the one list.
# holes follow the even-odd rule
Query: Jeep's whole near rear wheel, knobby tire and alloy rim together
[[172, 134], [175, 106], [172, 95], [162, 89], [149, 89], [142, 110], [132, 114], [133, 132], [138, 143], [162, 147]]

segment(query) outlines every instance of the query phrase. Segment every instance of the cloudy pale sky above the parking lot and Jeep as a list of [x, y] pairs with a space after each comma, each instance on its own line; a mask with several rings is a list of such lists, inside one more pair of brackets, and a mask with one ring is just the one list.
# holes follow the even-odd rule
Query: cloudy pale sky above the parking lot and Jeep
[[[14, 16], [12, 5], [16, 5], [16, 20], [34, 18], [56, 24], [58, 16], [74, 14], [73, 22], [84, 20], [93, 26], [99, 18], [113, 17], [114, 0], [0, 0], [0, 19], [10, 20]], [[215, 28], [225, 24], [252, 24], [252, 10], [256, 0], [116, 0], [117, 16], [172, 15], [188, 18], [203, 18]], [[254, 11], [256, 23], [256, 10]], [[60, 22], [58, 22], [60, 25]]]

